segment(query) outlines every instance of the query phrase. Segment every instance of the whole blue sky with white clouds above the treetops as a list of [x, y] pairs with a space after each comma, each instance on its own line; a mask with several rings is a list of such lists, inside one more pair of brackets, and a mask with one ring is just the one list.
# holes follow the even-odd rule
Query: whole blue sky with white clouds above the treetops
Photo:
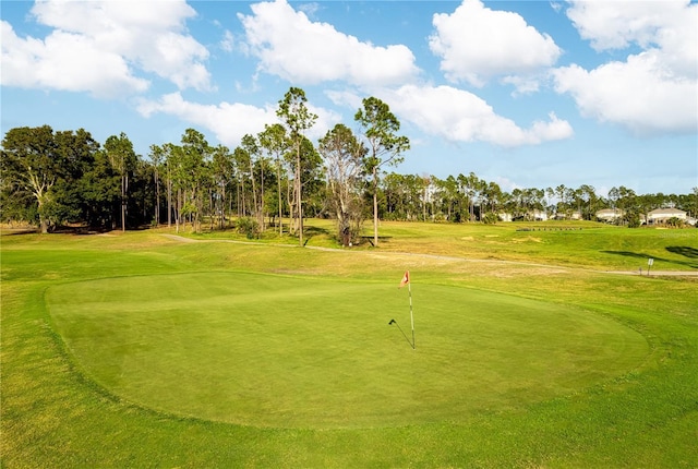
[[186, 128], [234, 148], [303, 88], [316, 140], [376, 96], [396, 172], [507, 191], [698, 187], [698, 4], [688, 1], [3, 1], [2, 134]]

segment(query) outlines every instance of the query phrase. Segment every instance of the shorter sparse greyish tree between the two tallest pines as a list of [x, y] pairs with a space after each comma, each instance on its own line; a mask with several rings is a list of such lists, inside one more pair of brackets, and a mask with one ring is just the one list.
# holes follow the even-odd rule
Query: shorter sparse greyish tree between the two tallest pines
[[348, 127], [338, 123], [320, 140], [318, 152], [325, 159], [337, 238], [342, 245], [348, 245], [356, 240], [361, 227], [361, 173], [366, 148]]

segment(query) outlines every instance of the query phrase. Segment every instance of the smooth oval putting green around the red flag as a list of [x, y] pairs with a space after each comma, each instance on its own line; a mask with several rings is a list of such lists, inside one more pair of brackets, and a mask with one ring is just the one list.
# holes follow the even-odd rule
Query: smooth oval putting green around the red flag
[[[46, 301], [83, 372], [177, 416], [275, 428], [459, 422], [629, 372], [645, 338], [521, 297], [248, 273], [56, 285]], [[395, 318], [397, 324], [388, 325]]]

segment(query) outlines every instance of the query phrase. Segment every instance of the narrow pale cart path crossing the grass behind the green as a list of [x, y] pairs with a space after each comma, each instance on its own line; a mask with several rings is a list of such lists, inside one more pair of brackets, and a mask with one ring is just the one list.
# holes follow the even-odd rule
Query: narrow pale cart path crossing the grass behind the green
[[[254, 242], [254, 241], [239, 241], [239, 240], [231, 240], [231, 239], [208, 239], [208, 240], [197, 240], [197, 239], [191, 239], [191, 238], [186, 238], [186, 237], [182, 237], [179, 234], [163, 234], [166, 238], [169, 238], [171, 240], [174, 241], [180, 241], [180, 242], [228, 242], [228, 243], [233, 243], [233, 244], [248, 244], [248, 245], [258, 245], [258, 246], [263, 246], [263, 245], [270, 245], [270, 246], [275, 246], [275, 248], [298, 248], [298, 244], [281, 244], [281, 243], [274, 243], [274, 244], [262, 244], [258, 242]], [[306, 245], [304, 249], [312, 249], [315, 251], [328, 251], [328, 252], [344, 252], [344, 253], [362, 253], [362, 254], [371, 254], [371, 255], [375, 255], [377, 253], [375, 252], [371, 252], [371, 251], [349, 251], [346, 249], [339, 249], [339, 248], [322, 248], [322, 246], [314, 246], [314, 245]], [[568, 266], [559, 266], [559, 265], [552, 265], [552, 264], [537, 264], [533, 262], [522, 262], [522, 261], [502, 261], [502, 260], [492, 260], [492, 258], [468, 258], [468, 257], [456, 257], [456, 256], [448, 256], [448, 255], [438, 255], [438, 254], [423, 254], [423, 253], [411, 253], [411, 252], [394, 252], [394, 251], [383, 251], [380, 253], [381, 255], [404, 255], [404, 256], [414, 256], [414, 257], [423, 257], [423, 258], [435, 258], [435, 260], [440, 260], [440, 261], [460, 261], [460, 262], [473, 262], [473, 263], [483, 263], [483, 264], [508, 264], [508, 265], [526, 265], [526, 266], [534, 266], [534, 267], [546, 267], [546, 268], [558, 268], [558, 269], [564, 269], [564, 270], [586, 270], [586, 272], [592, 272], [592, 273], [597, 273], [597, 274], [615, 274], [615, 275], [637, 275], [637, 276], [648, 276], [647, 270], [642, 270], [640, 273], [640, 270], [594, 270], [591, 268], [585, 268], [585, 267], [568, 267]], [[650, 277], [698, 277], [698, 270], [696, 272], [690, 272], [690, 270], [650, 270], [649, 273]]]

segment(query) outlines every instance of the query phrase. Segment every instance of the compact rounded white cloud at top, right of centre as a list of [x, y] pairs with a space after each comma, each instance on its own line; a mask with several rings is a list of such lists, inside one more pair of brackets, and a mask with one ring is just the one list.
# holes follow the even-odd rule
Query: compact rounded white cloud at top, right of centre
[[513, 12], [485, 8], [480, 0], [464, 0], [452, 14], [433, 17], [429, 39], [441, 58], [441, 70], [452, 82], [474, 86], [502, 75], [530, 75], [555, 63], [561, 49], [547, 34]]

